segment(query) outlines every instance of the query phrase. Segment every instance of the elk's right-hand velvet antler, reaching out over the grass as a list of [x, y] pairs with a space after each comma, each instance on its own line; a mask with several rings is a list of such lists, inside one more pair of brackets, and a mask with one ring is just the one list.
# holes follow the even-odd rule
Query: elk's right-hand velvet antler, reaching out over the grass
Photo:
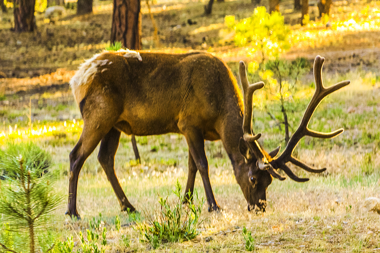
[[[295, 157], [292, 156], [294, 148], [297, 146], [299, 140], [301, 140], [302, 137], [304, 136], [311, 136], [311, 137], [317, 137], [317, 138], [333, 138], [336, 137], [337, 135], [341, 134], [344, 129], [340, 128], [334, 132], [330, 133], [322, 133], [322, 132], [316, 132], [313, 130], [310, 130], [307, 126], [309, 125], [310, 118], [313, 116], [313, 113], [315, 111], [315, 108], [320, 104], [320, 102], [330, 93], [339, 90], [340, 88], [348, 85], [350, 83], [349, 80], [345, 80], [339, 83], [336, 83], [335, 85], [332, 85], [328, 88], [325, 88], [323, 86], [322, 82], [322, 66], [323, 63], [325, 62], [324, 57], [320, 57], [317, 55], [315, 57], [314, 61], [314, 80], [315, 80], [315, 93], [312, 97], [312, 99], [309, 102], [309, 105], [306, 108], [306, 111], [304, 113], [304, 116], [301, 120], [301, 124], [299, 125], [298, 129], [296, 132], [294, 132], [293, 136], [290, 138], [288, 145], [286, 146], [285, 150], [282, 152], [282, 154], [278, 157], [275, 158], [269, 163], [272, 165], [269, 170], [273, 169], [282, 169], [291, 179], [297, 182], [305, 182], [308, 181], [309, 178], [299, 178], [296, 176], [290, 168], [286, 165], [287, 162], [291, 162], [294, 165], [301, 167], [302, 169], [309, 171], [309, 172], [314, 172], [314, 173], [320, 173], [322, 171], [325, 171], [326, 168], [323, 169], [315, 169], [310, 167], [309, 165], [301, 162], [300, 160], [296, 159]], [[271, 172], [271, 171], [270, 171]], [[272, 174], [272, 172], [271, 172]]]

